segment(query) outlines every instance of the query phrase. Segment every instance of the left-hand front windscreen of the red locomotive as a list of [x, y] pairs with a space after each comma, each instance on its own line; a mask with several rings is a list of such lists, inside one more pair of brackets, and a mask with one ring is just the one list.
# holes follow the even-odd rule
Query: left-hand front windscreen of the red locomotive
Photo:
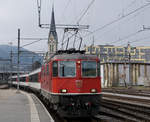
[[75, 77], [76, 62], [75, 61], [59, 61], [59, 76], [60, 77]]

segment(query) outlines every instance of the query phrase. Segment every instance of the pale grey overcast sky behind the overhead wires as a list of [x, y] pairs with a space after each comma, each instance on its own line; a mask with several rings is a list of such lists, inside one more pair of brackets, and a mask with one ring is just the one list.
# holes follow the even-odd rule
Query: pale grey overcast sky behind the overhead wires
[[[42, 0], [42, 23], [49, 23], [54, 3], [57, 24], [76, 24], [92, 0]], [[89, 31], [97, 28], [148, 4], [148, 0], [95, 0], [80, 24], [90, 25]], [[150, 30], [137, 33], [130, 38], [126, 36], [150, 27], [150, 5], [134, 14], [84, 38], [83, 43], [90, 45], [115, 44], [126, 46], [150, 46]], [[48, 31], [38, 27], [37, 0], [0, 0], [0, 44], [13, 42], [17, 45], [17, 29], [21, 29], [21, 37], [47, 38]], [[59, 42], [62, 30], [58, 31]], [[88, 33], [82, 32], [82, 36]], [[148, 38], [149, 37], [149, 38]], [[146, 38], [146, 39], [145, 39]], [[143, 40], [142, 40], [143, 39]], [[121, 40], [118, 41], [117, 40]], [[137, 40], [137, 42], [136, 42]], [[140, 40], [140, 41], [139, 41]], [[116, 41], [115, 43], [112, 43]], [[21, 41], [25, 45], [30, 41]], [[60, 44], [60, 43], [59, 43]], [[47, 51], [47, 41], [41, 41], [26, 47], [32, 51]]]

